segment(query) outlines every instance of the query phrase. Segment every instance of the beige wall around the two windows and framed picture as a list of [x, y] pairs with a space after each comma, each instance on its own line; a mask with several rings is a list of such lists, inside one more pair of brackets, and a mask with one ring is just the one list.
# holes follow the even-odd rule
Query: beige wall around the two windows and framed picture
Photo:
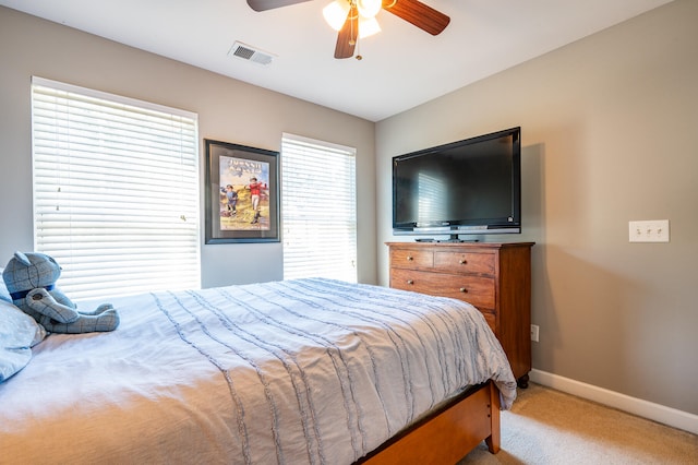
[[[33, 249], [32, 75], [197, 112], [202, 140], [206, 138], [278, 151], [281, 133], [290, 132], [356, 147], [359, 278], [365, 283], [375, 282], [373, 122], [2, 7], [0, 266], [7, 263], [14, 250]], [[203, 177], [203, 143], [200, 151]], [[205, 246], [202, 240], [202, 284], [209, 287], [280, 279], [281, 247], [281, 243]]]

